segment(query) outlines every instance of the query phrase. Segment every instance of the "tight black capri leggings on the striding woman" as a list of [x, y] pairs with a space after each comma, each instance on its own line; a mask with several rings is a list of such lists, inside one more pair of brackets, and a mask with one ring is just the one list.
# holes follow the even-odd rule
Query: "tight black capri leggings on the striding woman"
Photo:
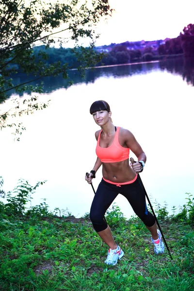
[[120, 187], [102, 179], [98, 185], [90, 210], [90, 219], [97, 232], [107, 228], [108, 225], [103, 217], [118, 194], [122, 194], [128, 199], [135, 214], [146, 226], [154, 225], [155, 218], [147, 210], [144, 189], [138, 179], [131, 184], [121, 185]]

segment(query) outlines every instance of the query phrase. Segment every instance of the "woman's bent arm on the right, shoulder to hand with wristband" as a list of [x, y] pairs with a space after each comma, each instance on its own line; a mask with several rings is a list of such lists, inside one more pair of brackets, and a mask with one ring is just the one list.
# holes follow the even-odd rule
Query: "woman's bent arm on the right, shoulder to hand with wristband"
[[[140, 144], [136, 141], [134, 135], [128, 129], [123, 129], [122, 131], [125, 144], [130, 148], [130, 150], [136, 155], [138, 159], [138, 162], [130, 165], [135, 172], [140, 172], [142, 170], [142, 166], [144, 166], [146, 163], [146, 154]], [[142, 161], [143, 163], [139, 163], [139, 161]]]

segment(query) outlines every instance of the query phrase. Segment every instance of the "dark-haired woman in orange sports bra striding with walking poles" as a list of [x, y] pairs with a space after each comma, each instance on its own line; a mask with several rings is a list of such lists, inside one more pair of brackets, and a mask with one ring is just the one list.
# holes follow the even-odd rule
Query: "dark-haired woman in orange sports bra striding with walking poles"
[[[96, 172], [102, 165], [103, 178], [97, 188], [90, 210], [90, 219], [101, 239], [109, 246], [105, 263], [115, 265], [124, 255], [113, 239], [111, 229], [104, 219], [106, 210], [118, 194], [124, 195], [134, 212], [144, 222], [152, 235], [156, 254], [164, 252], [162, 236], [156, 227], [154, 216], [147, 210], [146, 196], [137, 179], [146, 163], [146, 154], [128, 129], [115, 127], [111, 119], [110, 106], [106, 101], [95, 101], [90, 113], [101, 130], [95, 133], [97, 139], [97, 161], [85, 180], [91, 184]], [[129, 149], [136, 155], [138, 162], [129, 165]]]

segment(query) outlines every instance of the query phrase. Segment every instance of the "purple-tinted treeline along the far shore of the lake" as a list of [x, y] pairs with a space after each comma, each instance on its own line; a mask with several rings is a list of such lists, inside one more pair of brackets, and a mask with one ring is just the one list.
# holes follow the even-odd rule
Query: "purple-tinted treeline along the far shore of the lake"
[[[45, 46], [35, 47], [36, 59], [44, 57], [46, 52], [47, 63], [61, 62], [68, 64], [69, 68], [77, 68], [80, 63], [77, 57], [79, 49], [49, 48]], [[89, 50], [89, 48], [88, 48]], [[97, 65], [118, 65], [141, 61], [152, 61], [164, 57], [174, 57], [183, 54], [186, 57], [194, 56], [194, 24], [189, 24], [177, 38], [156, 40], [152, 42], [125, 42], [111, 44], [109, 46], [94, 48], [94, 53], [104, 54]]]

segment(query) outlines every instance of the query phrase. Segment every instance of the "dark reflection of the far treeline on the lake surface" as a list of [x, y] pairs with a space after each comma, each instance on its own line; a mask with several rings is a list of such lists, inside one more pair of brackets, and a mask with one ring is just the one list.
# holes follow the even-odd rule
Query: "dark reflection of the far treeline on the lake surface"
[[[73, 80], [74, 84], [79, 83], [94, 83], [100, 77], [115, 77], [122, 78], [125, 76], [132, 76], [135, 74], [147, 74], [151, 71], [156, 70], [167, 70], [172, 74], [181, 75], [183, 80], [189, 85], [194, 86], [194, 59], [191, 58], [175, 58], [160, 61], [157, 63], [142, 63], [142, 64], [131, 64], [131, 65], [121, 65], [121, 66], [110, 66], [101, 67], [96, 69], [85, 70], [85, 77], [82, 78], [78, 70], [69, 71], [69, 80]], [[24, 83], [32, 79], [32, 76], [19, 75], [14, 78], [13, 83], [17, 85], [19, 83]], [[59, 88], [67, 88], [68, 81], [63, 79], [62, 75], [58, 77], [46, 77], [37, 81], [32, 81], [32, 85], [40, 85], [41, 81], [44, 81], [44, 93], [51, 93]], [[9, 92], [11, 96], [13, 92]], [[20, 93], [23, 96], [23, 93]]]

